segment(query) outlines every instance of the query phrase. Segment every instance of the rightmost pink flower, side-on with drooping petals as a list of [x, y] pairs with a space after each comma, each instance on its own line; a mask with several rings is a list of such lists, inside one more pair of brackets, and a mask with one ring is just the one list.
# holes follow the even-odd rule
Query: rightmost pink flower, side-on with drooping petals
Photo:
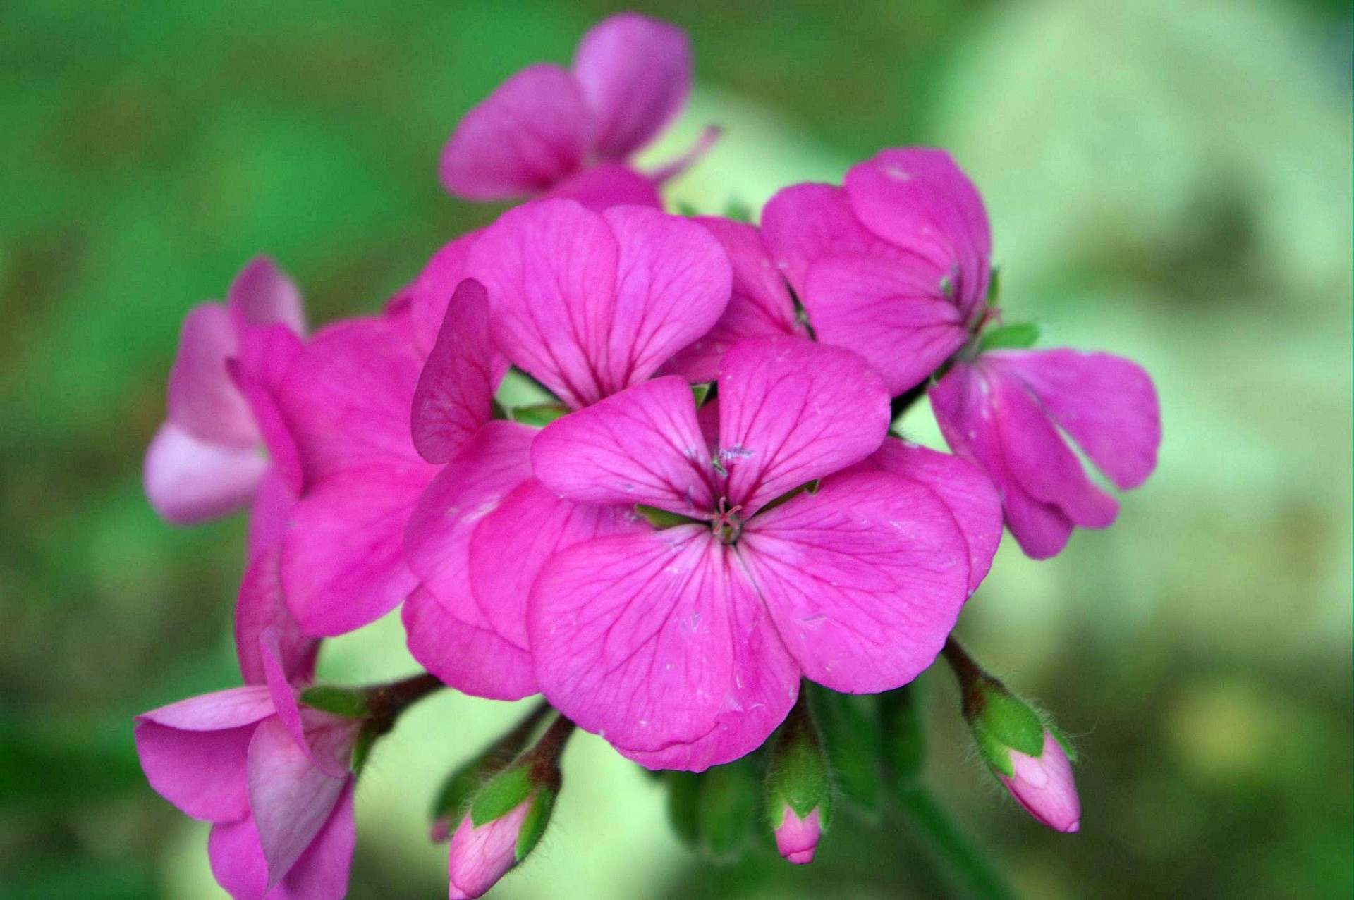
[[1120, 490], [1156, 468], [1156, 391], [1118, 356], [991, 351], [956, 361], [930, 399], [946, 443], [987, 471], [1006, 525], [1034, 559], [1062, 551], [1074, 526], [1106, 528], [1118, 513], [1067, 438]]

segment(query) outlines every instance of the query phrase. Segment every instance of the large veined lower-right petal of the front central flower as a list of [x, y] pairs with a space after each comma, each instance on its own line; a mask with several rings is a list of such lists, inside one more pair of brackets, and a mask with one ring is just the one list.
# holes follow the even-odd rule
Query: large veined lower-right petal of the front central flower
[[749, 521], [738, 544], [804, 675], [845, 693], [932, 665], [968, 598], [968, 548], [927, 489], [886, 472], [823, 480]]

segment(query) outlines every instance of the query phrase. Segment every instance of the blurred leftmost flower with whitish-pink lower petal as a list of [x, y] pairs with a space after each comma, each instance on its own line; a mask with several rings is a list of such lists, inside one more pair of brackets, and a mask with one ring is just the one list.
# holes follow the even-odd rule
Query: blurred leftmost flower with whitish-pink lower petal
[[[271, 329], [268, 326], [272, 326]], [[268, 334], [280, 332], [282, 334]], [[268, 422], [227, 361], [246, 356], [242, 378], [264, 379], [305, 333], [301, 294], [268, 257], [256, 257], [230, 284], [227, 300], [188, 313], [169, 371], [169, 414], [146, 451], [150, 505], [176, 525], [215, 518], [249, 503], [275, 455]]]

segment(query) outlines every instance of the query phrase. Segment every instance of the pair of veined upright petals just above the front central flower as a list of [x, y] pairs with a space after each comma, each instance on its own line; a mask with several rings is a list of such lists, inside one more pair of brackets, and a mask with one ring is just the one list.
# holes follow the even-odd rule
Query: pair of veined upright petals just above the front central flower
[[497, 345], [574, 409], [645, 380], [709, 330], [731, 280], [693, 222], [570, 200], [505, 212], [467, 272], [489, 290]]

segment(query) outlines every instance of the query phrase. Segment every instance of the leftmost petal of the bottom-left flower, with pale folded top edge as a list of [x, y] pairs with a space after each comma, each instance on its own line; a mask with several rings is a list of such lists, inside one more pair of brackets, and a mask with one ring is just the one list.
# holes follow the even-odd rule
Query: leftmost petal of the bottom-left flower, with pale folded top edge
[[265, 688], [232, 688], [137, 716], [137, 755], [156, 793], [194, 819], [249, 812], [245, 758], [256, 723], [272, 715]]

